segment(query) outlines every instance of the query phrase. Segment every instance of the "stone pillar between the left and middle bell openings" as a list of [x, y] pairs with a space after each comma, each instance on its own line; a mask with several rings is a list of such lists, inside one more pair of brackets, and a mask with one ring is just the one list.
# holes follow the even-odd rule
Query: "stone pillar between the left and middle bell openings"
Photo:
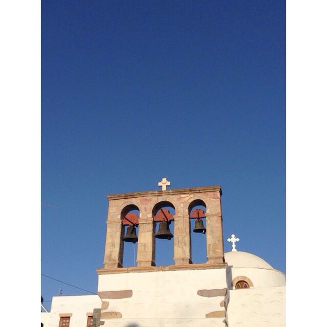
[[140, 219], [138, 223], [137, 267], [155, 266], [155, 224], [153, 218]]

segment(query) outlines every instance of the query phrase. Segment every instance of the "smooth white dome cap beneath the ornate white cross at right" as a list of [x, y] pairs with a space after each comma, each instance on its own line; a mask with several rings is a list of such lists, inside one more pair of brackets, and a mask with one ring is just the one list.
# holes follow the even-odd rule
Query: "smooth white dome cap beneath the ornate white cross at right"
[[274, 269], [260, 256], [244, 252], [244, 251], [230, 251], [225, 253], [225, 262], [228, 266], [233, 268], [264, 268]]

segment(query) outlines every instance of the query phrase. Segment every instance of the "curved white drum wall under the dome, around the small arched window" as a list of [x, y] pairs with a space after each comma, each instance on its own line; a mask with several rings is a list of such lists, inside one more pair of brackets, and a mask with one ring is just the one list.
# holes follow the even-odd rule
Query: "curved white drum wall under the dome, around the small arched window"
[[[274, 286], [285, 286], [286, 278], [285, 275], [278, 270], [263, 269], [263, 268], [231, 268], [231, 281], [238, 277], [248, 277], [253, 283], [254, 288], [258, 287], [274, 287]], [[229, 289], [231, 285], [228, 285]]]

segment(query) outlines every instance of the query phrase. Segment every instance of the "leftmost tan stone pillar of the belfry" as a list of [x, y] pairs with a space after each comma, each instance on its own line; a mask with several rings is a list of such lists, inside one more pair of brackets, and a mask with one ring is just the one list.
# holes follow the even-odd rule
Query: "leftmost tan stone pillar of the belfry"
[[112, 204], [112, 206], [108, 208], [107, 235], [104, 252], [105, 268], [123, 267], [123, 236], [124, 228], [120, 213], [116, 212], [116, 207]]

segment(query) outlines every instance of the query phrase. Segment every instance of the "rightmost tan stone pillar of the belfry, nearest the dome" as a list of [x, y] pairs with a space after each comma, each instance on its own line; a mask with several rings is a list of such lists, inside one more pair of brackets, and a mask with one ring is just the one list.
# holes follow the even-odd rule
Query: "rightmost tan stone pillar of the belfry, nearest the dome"
[[224, 245], [221, 214], [206, 216], [206, 253], [208, 264], [224, 262]]

